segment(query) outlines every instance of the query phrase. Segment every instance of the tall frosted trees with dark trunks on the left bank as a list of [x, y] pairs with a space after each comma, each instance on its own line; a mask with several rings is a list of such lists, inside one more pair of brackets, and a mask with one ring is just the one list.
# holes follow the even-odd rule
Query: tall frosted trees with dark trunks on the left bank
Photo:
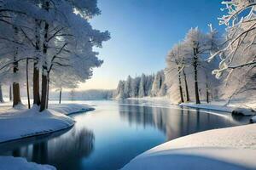
[[26, 85], [28, 103], [32, 89], [33, 104], [44, 111], [49, 88], [61, 92], [89, 79], [103, 62], [93, 48], [110, 37], [90, 26], [98, 14], [96, 0], [0, 1], [0, 101], [5, 85], [19, 105], [20, 86]]

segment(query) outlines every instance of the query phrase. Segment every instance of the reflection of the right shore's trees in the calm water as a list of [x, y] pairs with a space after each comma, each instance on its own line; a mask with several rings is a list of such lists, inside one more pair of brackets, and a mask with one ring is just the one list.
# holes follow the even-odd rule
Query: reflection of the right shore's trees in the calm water
[[[124, 102], [124, 101], [122, 101]], [[131, 105], [129, 105], [131, 104]], [[204, 130], [234, 126], [234, 117], [226, 118], [206, 112], [152, 107], [140, 105], [139, 101], [129, 101], [119, 105], [120, 116], [131, 126], [157, 127], [166, 133], [166, 141]]]

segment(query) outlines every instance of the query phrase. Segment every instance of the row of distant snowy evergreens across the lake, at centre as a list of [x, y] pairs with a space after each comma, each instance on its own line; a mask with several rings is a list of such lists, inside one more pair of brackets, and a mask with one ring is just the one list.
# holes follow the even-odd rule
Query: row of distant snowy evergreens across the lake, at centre
[[126, 99], [165, 96], [166, 90], [165, 73], [158, 71], [155, 75], [143, 74], [141, 77], [135, 78], [128, 76], [126, 81], [119, 81], [113, 97]]

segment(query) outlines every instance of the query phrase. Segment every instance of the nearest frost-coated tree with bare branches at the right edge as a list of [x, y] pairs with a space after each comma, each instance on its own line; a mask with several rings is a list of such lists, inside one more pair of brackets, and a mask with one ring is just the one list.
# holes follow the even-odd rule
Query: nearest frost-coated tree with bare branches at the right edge
[[224, 99], [253, 97], [256, 70], [255, 28], [256, 2], [251, 0], [224, 1], [225, 14], [219, 18], [220, 25], [226, 26], [225, 42], [211, 59], [220, 58], [219, 68], [212, 71], [224, 80], [220, 93]]

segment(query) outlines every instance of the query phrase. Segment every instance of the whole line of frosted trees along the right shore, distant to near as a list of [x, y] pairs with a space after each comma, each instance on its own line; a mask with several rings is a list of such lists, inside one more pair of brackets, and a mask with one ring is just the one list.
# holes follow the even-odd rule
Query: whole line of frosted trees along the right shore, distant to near
[[[166, 68], [154, 76], [145, 94], [145, 76], [120, 81], [117, 98], [168, 97], [174, 103], [213, 99], [256, 98], [256, 1], [224, 1], [219, 24], [224, 36], [209, 26], [208, 32], [191, 28], [166, 57]], [[164, 87], [161, 87], [164, 81]], [[142, 83], [141, 83], [142, 82]], [[142, 86], [140, 85], [142, 84]], [[161, 87], [161, 88], [160, 88]], [[141, 93], [140, 93], [140, 92]], [[137, 93], [134, 93], [137, 92]]]

